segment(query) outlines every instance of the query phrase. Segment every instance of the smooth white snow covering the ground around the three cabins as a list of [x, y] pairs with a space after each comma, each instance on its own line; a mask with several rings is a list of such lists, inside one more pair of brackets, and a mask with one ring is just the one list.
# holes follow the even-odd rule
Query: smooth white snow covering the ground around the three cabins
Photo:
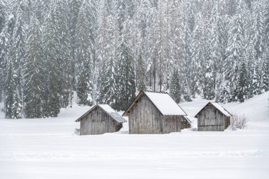
[[[247, 129], [224, 132], [129, 135], [125, 123], [118, 133], [77, 136], [74, 121], [89, 107], [47, 119], [4, 119], [0, 112], [0, 178], [268, 178], [268, 96], [223, 104], [249, 121]], [[193, 117], [206, 103], [181, 107]]]

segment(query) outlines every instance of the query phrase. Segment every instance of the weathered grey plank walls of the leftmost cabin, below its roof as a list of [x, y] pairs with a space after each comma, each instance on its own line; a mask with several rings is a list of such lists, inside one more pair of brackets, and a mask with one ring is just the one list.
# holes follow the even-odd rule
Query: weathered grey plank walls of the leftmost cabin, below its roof
[[81, 135], [97, 135], [119, 131], [122, 124], [116, 122], [111, 116], [96, 107], [81, 119]]

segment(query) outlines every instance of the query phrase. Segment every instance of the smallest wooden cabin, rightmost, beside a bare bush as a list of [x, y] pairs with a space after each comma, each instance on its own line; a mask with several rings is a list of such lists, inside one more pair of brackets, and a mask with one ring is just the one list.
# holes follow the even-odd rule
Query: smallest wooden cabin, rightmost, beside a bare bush
[[231, 113], [216, 102], [209, 102], [195, 117], [198, 131], [224, 131], [230, 125]]

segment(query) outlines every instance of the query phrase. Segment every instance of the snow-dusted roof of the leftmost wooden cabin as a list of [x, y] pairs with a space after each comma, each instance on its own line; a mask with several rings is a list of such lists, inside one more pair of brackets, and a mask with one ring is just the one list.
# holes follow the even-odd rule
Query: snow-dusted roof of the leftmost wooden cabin
[[100, 107], [101, 109], [103, 109], [103, 111], [106, 114], [108, 114], [109, 116], [111, 116], [118, 123], [127, 122], [120, 114], [118, 114], [118, 112], [116, 112], [108, 104], [96, 104], [94, 107], [92, 107], [90, 110], [88, 110], [88, 112], [86, 112], [85, 114], [83, 114], [82, 116], [80, 116], [79, 119], [76, 119], [76, 122], [77, 121], [80, 121], [81, 119], [83, 119], [84, 116], [86, 116], [89, 112], [93, 111], [93, 109], [96, 109], [96, 107]]

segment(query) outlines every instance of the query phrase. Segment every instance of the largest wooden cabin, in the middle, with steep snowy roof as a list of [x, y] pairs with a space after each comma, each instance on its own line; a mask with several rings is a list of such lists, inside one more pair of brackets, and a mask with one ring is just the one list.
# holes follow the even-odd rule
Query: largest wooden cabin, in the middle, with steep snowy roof
[[141, 91], [123, 116], [129, 116], [129, 134], [180, 132], [186, 116], [167, 93]]

